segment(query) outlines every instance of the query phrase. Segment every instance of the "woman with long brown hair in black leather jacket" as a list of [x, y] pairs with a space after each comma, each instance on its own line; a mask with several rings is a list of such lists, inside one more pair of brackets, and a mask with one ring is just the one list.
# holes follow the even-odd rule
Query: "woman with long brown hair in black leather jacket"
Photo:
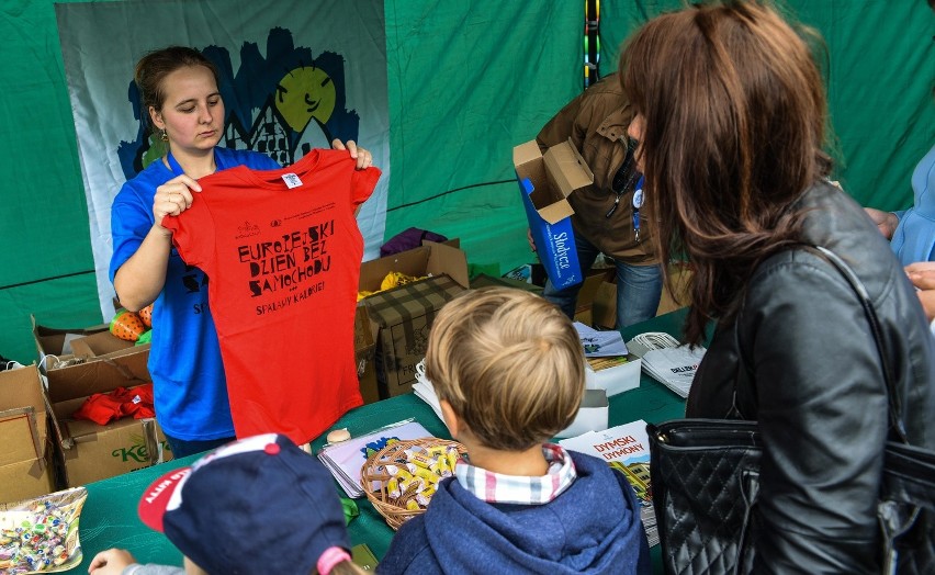
[[[685, 336], [705, 341], [688, 417], [758, 421], [755, 573], [878, 573], [876, 503], [893, 439], [882, 327], [909, 440], [935, 447], [935, 346], [919, 300], [861, 207], [826, 176], [826, 104], [803, 40], [754, 2], [650, 21], [621, 54], [631, 137], [662, 261], [694, 269]], [[712, 480], [713, 481], [713, 480]]]

